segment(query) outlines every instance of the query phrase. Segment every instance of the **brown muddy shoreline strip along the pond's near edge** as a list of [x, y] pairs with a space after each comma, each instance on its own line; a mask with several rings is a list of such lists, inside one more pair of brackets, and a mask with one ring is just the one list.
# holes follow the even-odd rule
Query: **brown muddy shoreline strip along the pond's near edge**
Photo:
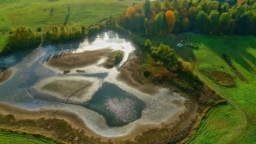
[[[168, 120], [168, 122], [171, 125], [175, 125], [177, 122], [181, 123], [187, 123], [190, 121], [186, 119], [181, 119], [181, 117], [184, 116], [192, 116], [196, 114], [196, 107], [194, 107], [194, 110], [192, 112], [184, 112], [182, 115], [177, 115], [175, 118], [171, 118]], [[60, 110], [53, 117], [51, 115], [56, 110], [50, 110], [50, 109], [40, 109], [40, 110], [26, 110], [22, 109], [21, 107], [10, 105], [7, 103], [0, 102], [0, 114], [1, 115], [13, 115], [16, 119], [40, 119], [40, 118], [58, 118], [58, 119], [64, 119], [68, 124], [71, 124], [73, 128], [75, 129], [83, 129], [85, 131], [86, 136], [94, 136], [97, 138], [100, 138], [102, 141], [108, 141], [108, 140], [133, 140], [136, 136], [141, 135], [144, 131], [147, 131], [148, 129], [161, 129], [165, 123], [162, 123], [160, 125], [158, 124], [138, 124], [136, 125], [135, 129], [132, 129], [128, 135], [125, 136], [119, 136], [119, 137], [103, 137], [101, 135], [97, 135], [92, 131], [90, 128], [86, 126], [86, 124], [83, 122], [83, 119], [80, 118], [78, 115], [72, 112], [68, 112], [65, 110]], [[170, 127], [170, 126], [169, 126]], [[26, 130], [25, 130], [26, 131]], [[28, 130], [28, 133], [29, 130]]]

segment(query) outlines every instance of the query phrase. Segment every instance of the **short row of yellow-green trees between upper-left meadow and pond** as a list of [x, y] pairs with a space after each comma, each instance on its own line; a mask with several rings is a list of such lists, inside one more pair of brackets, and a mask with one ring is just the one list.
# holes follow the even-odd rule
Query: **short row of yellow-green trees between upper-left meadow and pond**
[[46, 31], [46, 39], [49, 40], [68, 40], [85, 37], [86, 27], [53, 26], [53, 29]]

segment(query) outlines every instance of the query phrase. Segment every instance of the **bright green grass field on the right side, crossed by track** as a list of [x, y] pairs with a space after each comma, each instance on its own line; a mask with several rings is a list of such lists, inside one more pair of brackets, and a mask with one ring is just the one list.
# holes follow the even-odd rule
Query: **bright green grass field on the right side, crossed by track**
[[[172, 36], [174, 37], [174, 36]], [[186, 61], [195, 65], [195, 70], [218, 70], [229, 73], [236, 81], [236, 87], [224, 87], [217, 85], [228, 97], [239, 105], [246, 113], [247, 131], [237, 143], [254, 143], [256, 141], [255, 109], [256, 103], [256, 39], [253, 36], [229, 35], [202, 35], [184, 33], [176, 35], [177, 40], [172, 37], [155, 37], [153, 44], [169, 44]], [[184, 43], [193, 44], [199, 47], [198, 50], [191, 47], [177, 47], [180, 40]], [[154, 39], [154, 40], [153, 40]], [[229, 65], [224, 61], [222, 55], [226, 54], [233, 65], [247, 79], [242, 81]], [[224, 66], [224, 68], [221, 67]], [[232, 143], [232, 136], [239, 130], [238, 122], [241, 121], [240, 113], [231, 104], [213, 107], [203, 119], [196, 134], [189, 143]]]

